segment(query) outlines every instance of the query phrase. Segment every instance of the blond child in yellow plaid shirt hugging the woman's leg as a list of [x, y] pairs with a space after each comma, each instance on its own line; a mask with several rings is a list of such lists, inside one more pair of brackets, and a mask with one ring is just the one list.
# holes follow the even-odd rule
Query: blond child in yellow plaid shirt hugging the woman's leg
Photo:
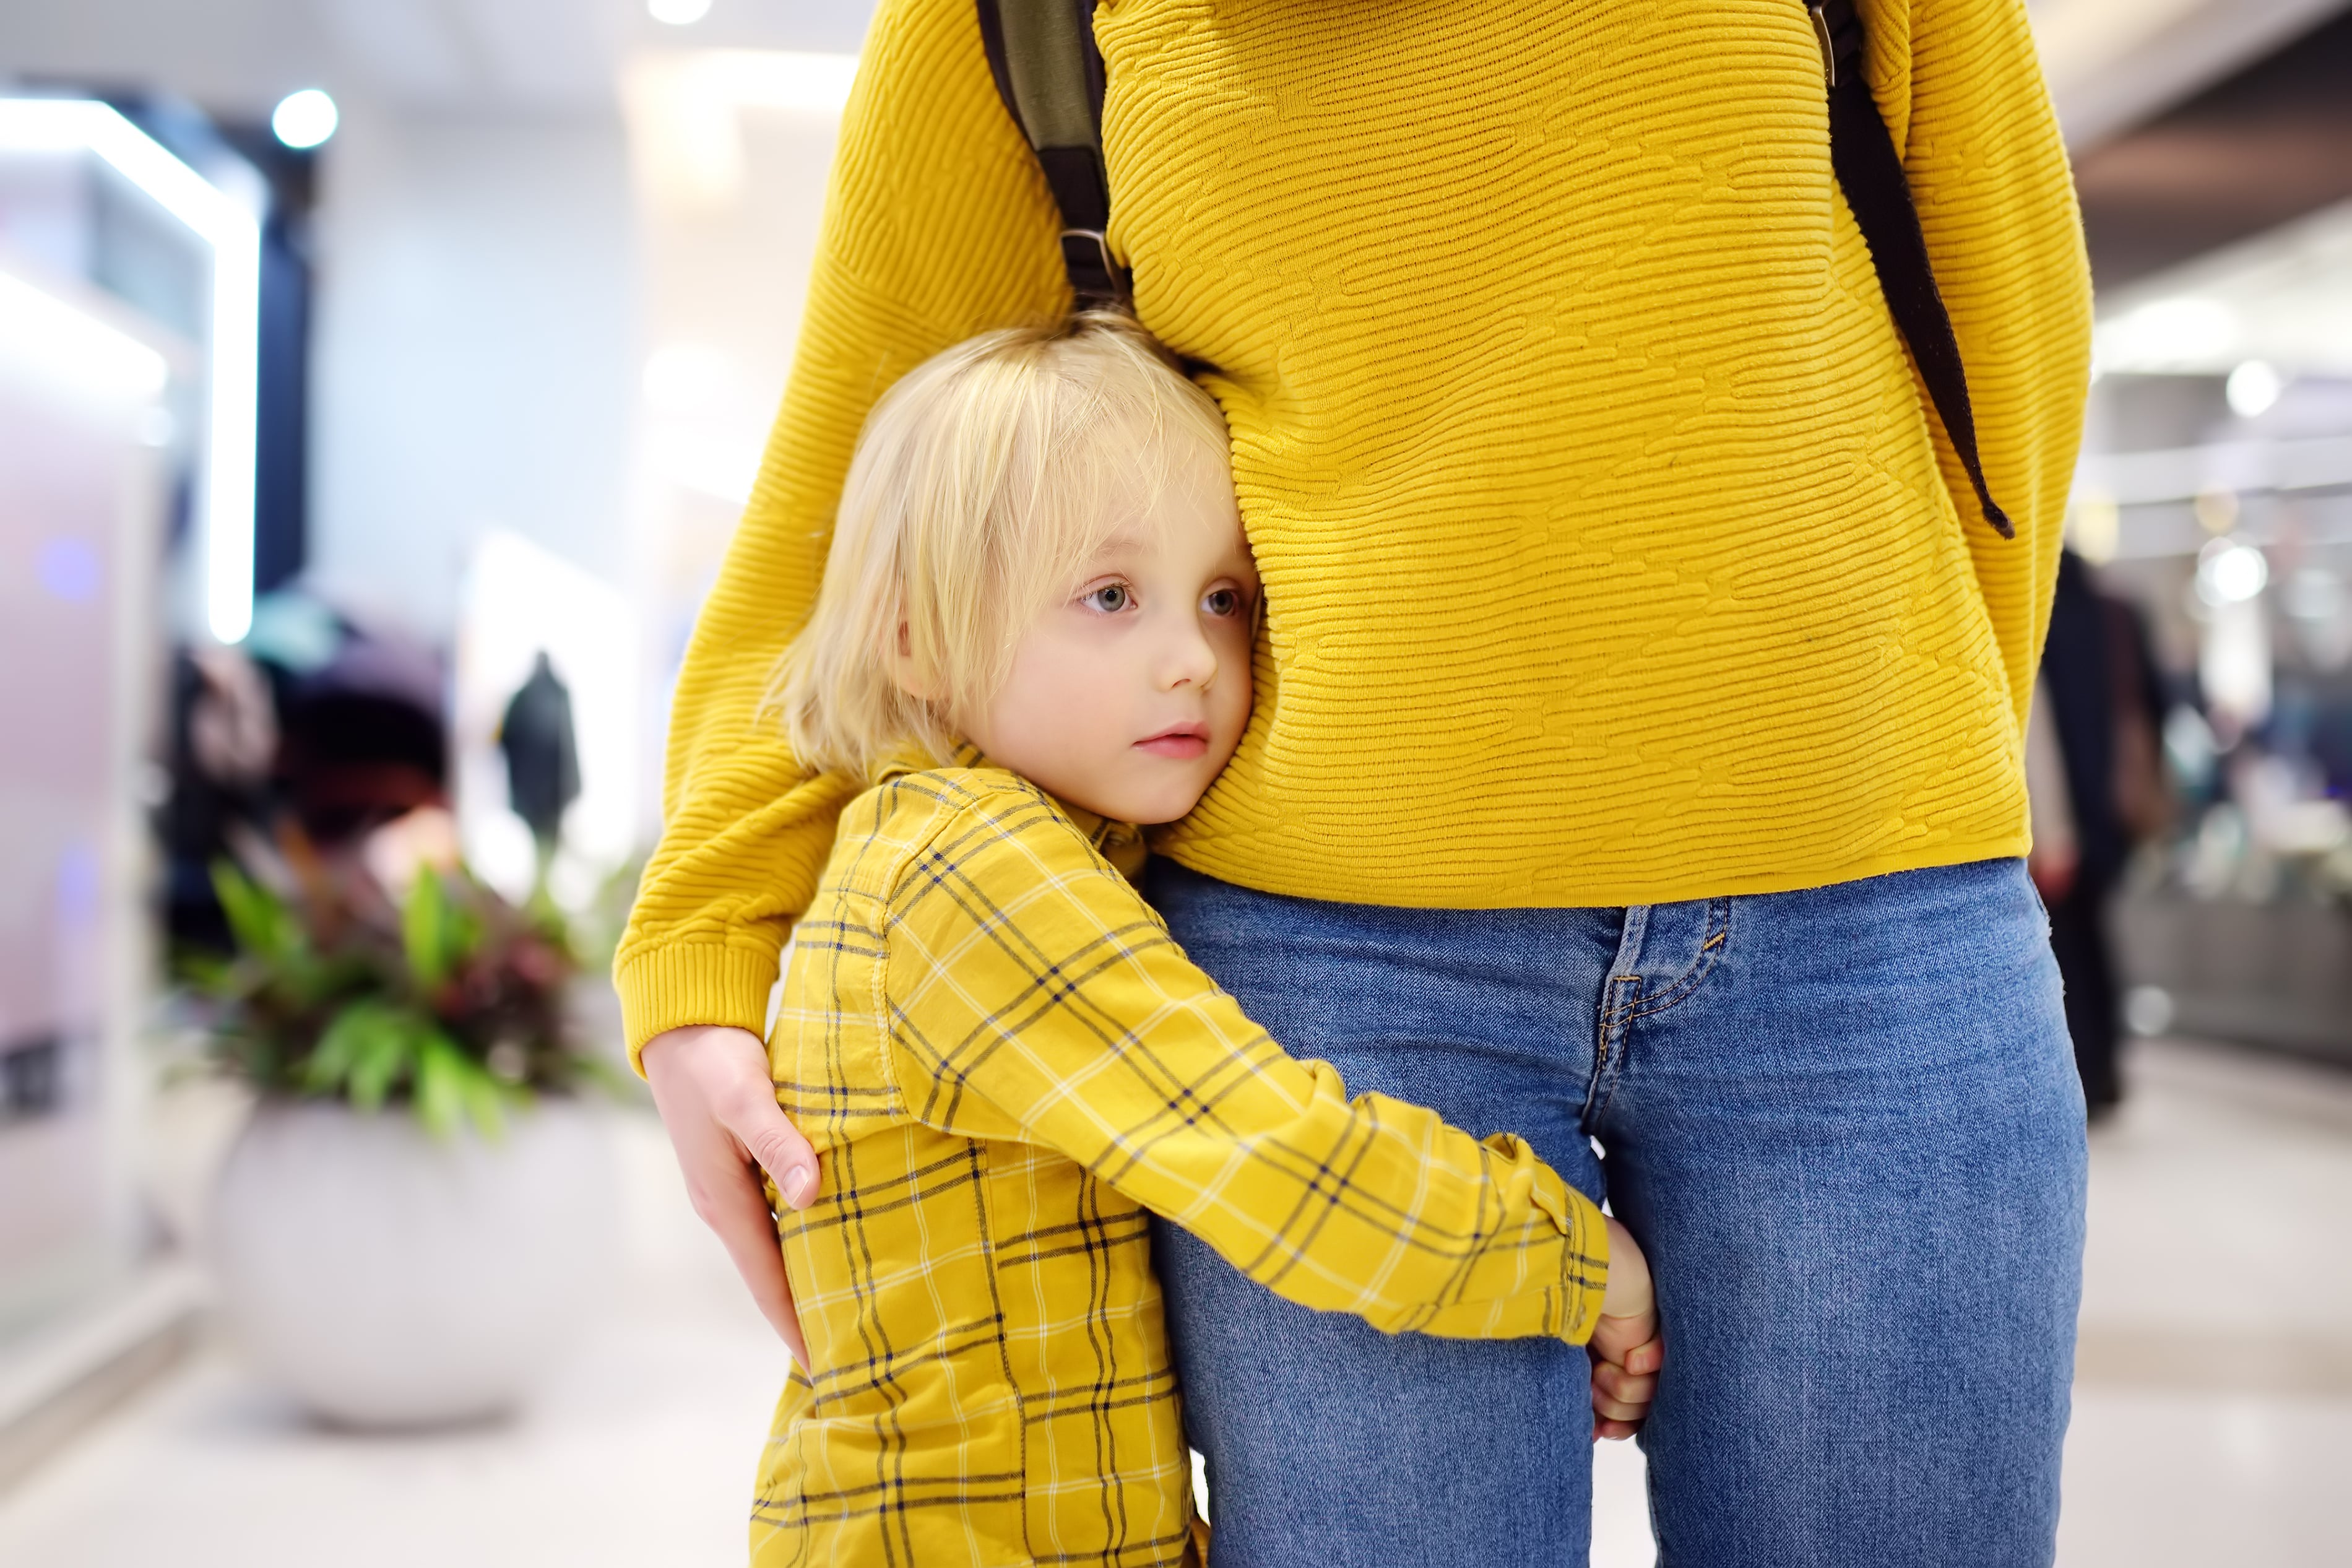
[[1131, 886], [1242, 738], [1256, 618], [1223, 418], [1124, 317], [962, 343], [868, 421], [776, 689], [873, 788], [769, 1041], [823, 1190], [776, 1204], [809, 1363], [757, 1563], [1200, 1563], [1148, 1213], [1385, 1331], [1646, 1314], [1526, 1145], [1350, 1103]]

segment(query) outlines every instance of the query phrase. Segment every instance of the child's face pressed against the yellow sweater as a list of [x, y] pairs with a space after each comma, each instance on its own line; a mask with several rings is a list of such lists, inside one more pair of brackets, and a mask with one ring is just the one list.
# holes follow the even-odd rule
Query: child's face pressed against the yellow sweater
[[1258, 571], [1209, 456], [1080, 567], [964, 731], [1042, 790], [1122, 823], [1174, 823], [1242, 743]]

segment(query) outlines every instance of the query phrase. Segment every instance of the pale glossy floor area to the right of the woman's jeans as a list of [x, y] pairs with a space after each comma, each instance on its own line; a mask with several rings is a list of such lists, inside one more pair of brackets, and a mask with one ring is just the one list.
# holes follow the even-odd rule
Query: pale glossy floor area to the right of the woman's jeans
[[2352, 1563], [2352, 1077], [2136, 1070], [2091, 1135], [2058, 1561]]

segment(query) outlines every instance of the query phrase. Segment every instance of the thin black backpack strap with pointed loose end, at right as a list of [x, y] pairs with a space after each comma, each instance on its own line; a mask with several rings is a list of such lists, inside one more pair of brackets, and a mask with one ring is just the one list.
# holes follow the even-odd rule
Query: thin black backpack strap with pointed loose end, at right
[[1830, 78], [1830, 165], [1846, 190], [1846, 207], [1870, 242], [1870, 263], [1879, 270], [1879, 289], [1896, 317], [1896, 329], [1910, 343], [1912, 364], [1926, 381], [1926, 395], [1943, 416], [1943, 430], [1969, 470], [1976, 503], [2002, 538], [2016, 538], [2009, 515], [1992, 503], [1985, 465], [1976, 456], [1976, 409], [1969, 404], [1969, 374], [1959, 362], [1959, 339], [1952, 313], [1936, 289], [1936, 268], [1926, 259], [1926, 235], [1919, 233], [1919, 209], [1896, 139], [1879, 118], [1879, 103], [1863, 80], [1863, 19], [1853, 0], [1809, 0], [1813, 33], [1820, 38], [1820, 66]]

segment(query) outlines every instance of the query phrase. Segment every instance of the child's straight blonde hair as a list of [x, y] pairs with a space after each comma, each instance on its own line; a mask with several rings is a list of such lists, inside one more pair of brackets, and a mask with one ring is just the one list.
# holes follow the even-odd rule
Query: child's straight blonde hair
[[[1216, 404], [1131, 317], [1089, 310], [924, 360], [866, 418], [807, 625], [769, 701], [809, 766], [920, 745], [1011, 672], [1021, 635], [1183, 444], [1228, 461]], [[896, 679], [906, 628], [913, 696]]]

